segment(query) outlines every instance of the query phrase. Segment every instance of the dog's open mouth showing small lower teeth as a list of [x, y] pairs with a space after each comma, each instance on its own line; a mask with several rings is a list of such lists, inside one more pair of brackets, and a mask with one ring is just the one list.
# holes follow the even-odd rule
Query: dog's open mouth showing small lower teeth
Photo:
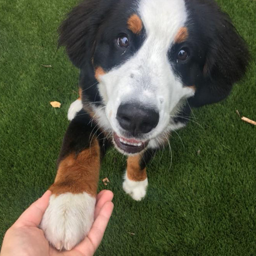
[[120, 148], [122, 151], [125, 151], [126, 153], [129, 154], [136, 154], [141, 151], [143, 151], [149, 141], [142, 142], [142, 141], [137, 141], [135, 139], [126, 139], [123, 137], [119, 137], [115, 132], [114, 132], [114, 142], [118, 148]]

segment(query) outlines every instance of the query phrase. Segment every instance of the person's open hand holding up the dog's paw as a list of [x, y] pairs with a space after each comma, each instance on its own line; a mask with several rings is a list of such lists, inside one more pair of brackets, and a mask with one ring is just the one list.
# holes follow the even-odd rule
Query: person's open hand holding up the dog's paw
[[113, 193], [101, 191], [97, 196], [94, 223], [88, 236], [71, 251], [59, 252], [51, 247], [38, 228], [48, 207], [51, 192], [34, 202], [10, 227], [4, 237], [0, 256], [92, 256], [100, 245], [113, 211]]

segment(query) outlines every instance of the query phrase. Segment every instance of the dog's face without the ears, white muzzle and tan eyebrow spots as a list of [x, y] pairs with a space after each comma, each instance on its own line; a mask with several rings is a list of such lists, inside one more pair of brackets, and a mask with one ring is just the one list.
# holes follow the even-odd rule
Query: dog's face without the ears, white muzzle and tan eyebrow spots
[[193, 83], [178, 75], [193, 56], [184, 2], [141, 1], [132, 14], [120, 19], [118, 12], [100, 28], [93, 64], [114, 142], [130, 153], [169, 132], [172, 116], [194, 95]]

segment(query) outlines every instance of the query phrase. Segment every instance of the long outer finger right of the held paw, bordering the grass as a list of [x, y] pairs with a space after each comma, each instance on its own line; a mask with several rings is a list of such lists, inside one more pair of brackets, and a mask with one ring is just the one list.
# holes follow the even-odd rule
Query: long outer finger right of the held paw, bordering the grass
[[76, 247], [76, 250], [84, 253], [85, 255], [93, 255], [100, 245], [104, 232], [108, 225], [109, 219], [113, 212], [114, 204], [106, 202], [94, 221], [88, 236]]

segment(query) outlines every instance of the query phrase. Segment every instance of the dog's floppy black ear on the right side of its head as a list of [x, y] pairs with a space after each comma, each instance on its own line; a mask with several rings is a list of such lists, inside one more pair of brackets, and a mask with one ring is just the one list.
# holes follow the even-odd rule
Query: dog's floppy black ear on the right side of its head
[[[206, 36], [204, 79], [196, 88], [191, 106], [199, 107], [225, 99], [233, 86], [246, 72], [250, 59], [246, 42], [234, 28], [229, 16], [217, 5], [201, 19], [203, 36]], [[204, 15], [204, 14], [202, 14]]]

